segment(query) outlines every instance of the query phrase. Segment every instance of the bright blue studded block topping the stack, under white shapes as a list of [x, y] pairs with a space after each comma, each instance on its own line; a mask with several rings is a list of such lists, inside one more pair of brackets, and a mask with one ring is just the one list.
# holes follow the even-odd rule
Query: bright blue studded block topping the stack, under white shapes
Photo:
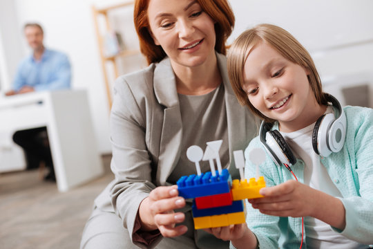
[[211, 196], [214, 194], [224, 194], [231, 191], [231, 175], [227, 169], [222, 170], [222, 174], [212, 176], [211, 172], [202, 173], [200, 176], [192, 174], [182, 176], [178, 182], [179, 196], [185, 199]]

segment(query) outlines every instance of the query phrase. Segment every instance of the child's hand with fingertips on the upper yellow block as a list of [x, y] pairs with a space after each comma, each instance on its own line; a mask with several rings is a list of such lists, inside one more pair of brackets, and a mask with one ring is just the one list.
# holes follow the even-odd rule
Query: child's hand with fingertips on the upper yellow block
[[318, 191], [303, 183], [290, 180], [274, 187], [260, 190], [265, 196], [259, 199], [249, 199], [249, 203], [263, 214], [273, 216], [302, 217], [312, 216]]

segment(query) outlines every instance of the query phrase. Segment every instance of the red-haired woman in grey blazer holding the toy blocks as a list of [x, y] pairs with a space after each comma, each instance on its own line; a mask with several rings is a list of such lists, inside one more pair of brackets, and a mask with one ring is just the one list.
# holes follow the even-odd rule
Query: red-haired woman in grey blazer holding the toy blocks
[[[227, 76], [233, 12], [226, 0], [139, 0], [134, 21], [150, 66], [115, 83], [115, 180], [95, 200], [81, 247], [228, 248], [193, 230], [191, 203], [178, 196], [175, 182], [195, 174], [187, 148], [218, 139], [221, 163], [237, 178], [231, 155], [256, 133]], [[204, 163], [202, 172], [209, 171]]]

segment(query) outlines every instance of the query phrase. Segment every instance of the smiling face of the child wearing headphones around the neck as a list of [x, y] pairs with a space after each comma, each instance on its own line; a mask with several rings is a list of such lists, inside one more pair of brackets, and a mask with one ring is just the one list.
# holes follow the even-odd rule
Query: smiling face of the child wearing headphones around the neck
[[296, 131], [323, 114], [307, 74], [305, 68], [259, 42], [246, 59], [242, 89], [260, 113], [278, 120], [281, 131]]

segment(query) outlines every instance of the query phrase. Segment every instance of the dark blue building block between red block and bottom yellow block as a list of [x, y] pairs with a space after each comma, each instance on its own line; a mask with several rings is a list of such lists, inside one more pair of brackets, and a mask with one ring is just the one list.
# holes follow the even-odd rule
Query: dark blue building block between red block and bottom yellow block
[[230, 214], [233, 212], [243, 212], [244, 210], [244, 203], [242, 200], [240, 201], [233, 201], [232, 205], [222, 206], [218, 208], [204, 208], [198, 209], [195, 203], [193, 202], [192, 212], [193, 217], [202, 217], [202, 216], [213, 216], [219, 214]]

